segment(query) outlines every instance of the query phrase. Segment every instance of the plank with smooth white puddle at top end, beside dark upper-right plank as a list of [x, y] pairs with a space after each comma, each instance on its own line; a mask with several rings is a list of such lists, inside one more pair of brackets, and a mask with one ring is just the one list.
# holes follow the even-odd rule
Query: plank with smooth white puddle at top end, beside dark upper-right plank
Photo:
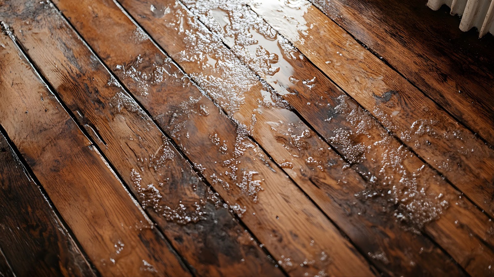
[[[297, 2], [294, 7], [279, 3], [269, 5], [268, 2], [252, 4], [251, 7], [281, 35], [293, 41], [306, 58], [388, 131], [448, 178], [476, 205], [494, 215], [494, 149], [475, 138], [308, 1]], [[283, 14], [290, 14], [293, 19], [288, 20], [286, 18], [291, 17], [285, 18]], [[293, 24], [293, 20], [301, 22], [301, 25]], [[307, 27], [306, 22], [312, 28]], [[309, 34], [302, 34], [297, 28], [309, 28], [303, 31]], [[328, 42], [321, 43], [323, 40]], [[317, 87], [318, 82], [315, 84]], [[322, 116], [334, 113], [333, 105], [315, 107], [322, 109]], [[331, 137], [324, 129], [318, 130], [325, 137]]]

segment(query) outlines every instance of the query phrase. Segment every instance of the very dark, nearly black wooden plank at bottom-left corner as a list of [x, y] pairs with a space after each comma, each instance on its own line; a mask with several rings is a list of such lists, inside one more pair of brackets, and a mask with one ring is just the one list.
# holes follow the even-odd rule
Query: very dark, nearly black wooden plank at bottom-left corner
[[0, 248], [10, 267], [19, 276], [95, 276], [28, 174], [0, 132]]

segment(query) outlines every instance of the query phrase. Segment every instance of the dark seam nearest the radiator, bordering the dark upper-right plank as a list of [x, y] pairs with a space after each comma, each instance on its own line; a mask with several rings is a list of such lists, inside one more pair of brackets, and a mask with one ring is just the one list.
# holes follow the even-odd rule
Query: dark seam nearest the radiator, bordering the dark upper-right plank
[[[364, 48], [366, 48], [369, 52], [371, 52], [372, 55], [374, 55], [375, 57], [377, 57], [379, 60], [381, 60], [386, 66], [388, 66], [389, 68], [391, 68], [391, 70], [395, 71], [396, 73], [398, 73], [403, 79], [405, 79], [408, 83], [410, 83], [413, 87], [415, 87], [416, 89], [418, 89], [418, 91], [420, 91], [420, 93], [422, 93], [425, 97], [429, 98], [434, 104], [436, 104], [437, 107], [439, 107], [441, 110], [443, 110], [444, 112], [446, 112], [446, 114], [448, 114], [452, 119], [454, 119], [454, 121], [456, 121], [458, 124], [460, 124], [461, 126], [465, 127], [467, 130], [469, 130], [470, 132], [472, 132], [472, 134], [480, 139], [483, 143], [485, 143], [487, 146], [489, 146], [489, 148], [494, 148], [494, 145], [491, 145], [484, 137], [482, 137], [481, 135], [479, 135], [477, 132], [475, 132], [474, 130], [472, 130], [468, 125], [466, 125], [465, 123], [463, 123], [463, 121], [461, 120], [458, 120], [452, 113], [450, 113], [450, 111], [448, 111], [446, 108], [444, 108], [441, 104], [439, 104], [436, 100], [434, 100], [433, 98], [431, 98], [427, 93], [425, 93], [421, 88], [419, 88], [415, 83], [413, 83], [410, 79], [408, 79], [405, 75], [403, 75], [401, 72], [399, 72], [395, 67], [393, 67], [387, 60], [386, 58], [384, 58], [383, 56], [379, 55], [379, 53], [377, 53], [376, 51], [374, 51], [371, 47], [367, 46], [366, 44], [364, 44], [364, 42], [360, 41], [359, 39], [357, 39], [352, 33], [350, 33], [348, 30], [346, 30], [345, 28], [343, 28], [343, 26], [341, 26], [340, 24], [338, 24], [338, 22], [334, 21], [326, 12], [324, 12], [324, 10], [322, 10], [321, 8], [319, 8], [319, 5], [315, 4], [312, 0], [308, 0], [314, 7], [316, 7], [318, 10], [320, 10], [322, 13], [324, 13], [328, 18], [329, 20], [331, 20], [334, 24], [338, 25], [338, 27], [340, 27], [343, 31], [345, 31], [345, 33], [347, 33], [350, 37], [352, 37], [352, 39], [354, 39], [355, 41], [357, 41], [357, 43], [359, 43], [360, 45], [364, 46]], [[264, 20], [264, 19], [263, 19]], [[308, 58], [307, 58], [308, 59]], [[309, 60], [309, 59], [308, 59]], [[312, 63], [312, 62], [311, 62]], [[338, 86], [339, 87], [339, 86]], [[346, 92], [345, 92], [346, 93]], [[358, 102], [357, 102], [358, 103]]]

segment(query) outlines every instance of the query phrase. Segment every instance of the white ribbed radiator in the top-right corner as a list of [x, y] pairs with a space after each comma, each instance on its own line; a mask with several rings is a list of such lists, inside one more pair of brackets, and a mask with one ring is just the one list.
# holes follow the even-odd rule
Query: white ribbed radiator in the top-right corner
[[461, 15], [460, 30], [479, 29], [479, 38], [494, 34], [494, 0], [429, 0], [427, 6], [438, 10], [443, 4], [451, 8], [451, 14]]

